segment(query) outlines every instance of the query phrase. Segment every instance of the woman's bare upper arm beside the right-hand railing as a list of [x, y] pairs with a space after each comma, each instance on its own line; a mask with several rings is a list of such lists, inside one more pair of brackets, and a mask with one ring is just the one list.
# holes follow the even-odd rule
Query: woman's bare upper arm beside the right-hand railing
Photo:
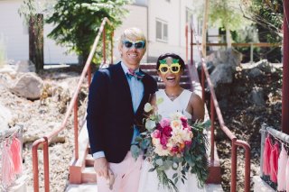
[[205, 115], [205, 107], [200, 96], [196, 94], [191, 94], [190, 106], [191, 106], [190, 108], [192, 109], [191, 119], [193, 121], [196, 120], [203, 121]]

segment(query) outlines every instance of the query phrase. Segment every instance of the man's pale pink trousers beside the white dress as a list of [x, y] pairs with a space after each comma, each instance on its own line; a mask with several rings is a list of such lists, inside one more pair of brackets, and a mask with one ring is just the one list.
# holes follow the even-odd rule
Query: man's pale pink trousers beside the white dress
[[130, 151], [127, 152], [125, 160], [120, 163], [108, 163], [109, 168], [116, 176], [112, 190], [107, 185], [107, 180], [98, 177], [98, 192], [135, 192], [138, 189], [140, 169], [142, 168], [143, 156], [137, 160], [132, 157]]

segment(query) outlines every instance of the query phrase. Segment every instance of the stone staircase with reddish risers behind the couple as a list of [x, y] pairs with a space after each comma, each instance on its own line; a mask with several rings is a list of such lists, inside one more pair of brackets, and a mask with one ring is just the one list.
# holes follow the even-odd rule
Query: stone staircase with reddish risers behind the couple
[[[164, 88], [163, 82], [158, 79], [157, 72], [155, 69], [155, 63], [142, 64], [141, 68], [157, 80], [159, 88]], [[194, 82], [195, 81], [199, 82], [196, 70], [194, 70], [193, 77], [195, 79], [191, 80], [189, 75], [189, 69], [188, 68], [185, 69], [181, 78], [182, 81], [181, 86], [185, 89], [191, 89], [191, 87], [194, 87]], [[209, 117], [207, 110], [205, 116], [207, 118]], [[210, 141], [210, 132], [208, 132], [208, 139]], [[208, 149], [210, 149], [210, 147]], [[215, 149], [217, 148], [215, 147]], [[222, 191], [222, 188], [220, 187], [221, 175], [220, 175], [219, 158], [216, 150], [214, 151], [214, 154], [215, 160], [209, 161], [210, 176], [207, 180], [205, 191]], [[208, 151], [208, 156], [210, 156], [210, 151]], [[69, 177], [70, 184], [67, 186], [66, 191], [68, 192], [98, 191], [97, 175], [94, 171], [93, 163], [94, 160], [90, 154], [89, 149], [89, 136], [86, 128], [86, 123], [84, 123], [79, 133], [79, 159], [78, 160], [72, 159], [70, 161], [70, 177]]]

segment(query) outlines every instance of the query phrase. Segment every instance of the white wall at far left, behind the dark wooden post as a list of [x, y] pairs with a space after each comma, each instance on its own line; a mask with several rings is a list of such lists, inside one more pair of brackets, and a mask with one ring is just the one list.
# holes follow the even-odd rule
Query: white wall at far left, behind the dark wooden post
[[[0, 36], [5, 42], [7, 59], [29, 59], [28, 29], [23, 26], [23, 18], [18, 14], [21, 0], [0, 0]], [[51, 32], [51, 25], [44, 25], [44, 63], [77, 63], [76, 55], [66, 55], [66, 49], [56, 45], [46, 35]]]

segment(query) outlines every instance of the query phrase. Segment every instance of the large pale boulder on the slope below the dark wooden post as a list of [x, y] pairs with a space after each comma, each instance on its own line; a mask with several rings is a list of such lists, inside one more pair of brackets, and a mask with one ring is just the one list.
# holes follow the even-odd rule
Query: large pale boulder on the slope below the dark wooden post
[[17, 96], [34, 100], [40, 98], [42, 86], [42, 78], [39, 78], [35, 73], [24, 73], [9, 89]]

